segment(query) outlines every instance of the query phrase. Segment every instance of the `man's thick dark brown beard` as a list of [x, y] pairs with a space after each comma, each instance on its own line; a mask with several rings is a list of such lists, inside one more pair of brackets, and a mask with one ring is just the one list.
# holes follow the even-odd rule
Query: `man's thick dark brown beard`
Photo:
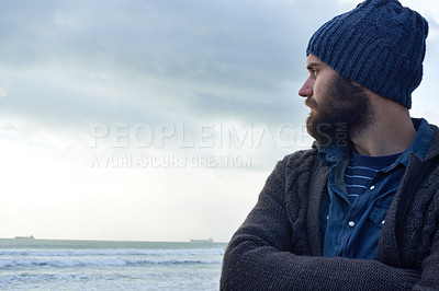
[[308, 97], [305, 104], [314, 109], [306, 119], [306, 129], [322, 147], [348, 148], [351, 136], [361, 135], [373, 121], [369, 96], [341, 75], [334, 78], [322, 102]]

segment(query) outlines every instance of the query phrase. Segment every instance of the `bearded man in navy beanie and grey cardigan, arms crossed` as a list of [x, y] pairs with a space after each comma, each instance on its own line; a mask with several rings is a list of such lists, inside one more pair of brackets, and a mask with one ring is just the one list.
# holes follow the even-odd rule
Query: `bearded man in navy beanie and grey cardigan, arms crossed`
[[439, 290], [439, 129], [408, 114], [427, 34], [367, 0], [312, 36], [299, 94], [316, 142], [277, 164], [222, 290]]

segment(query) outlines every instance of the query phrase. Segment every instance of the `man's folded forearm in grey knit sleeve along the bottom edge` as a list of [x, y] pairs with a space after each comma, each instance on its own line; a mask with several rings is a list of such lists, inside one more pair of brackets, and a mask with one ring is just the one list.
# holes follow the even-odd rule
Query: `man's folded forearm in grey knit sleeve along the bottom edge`
[[419, 272], [376, 260], [299, 256], [237, 235], [223, 263], [222, 290], [408, 290]]

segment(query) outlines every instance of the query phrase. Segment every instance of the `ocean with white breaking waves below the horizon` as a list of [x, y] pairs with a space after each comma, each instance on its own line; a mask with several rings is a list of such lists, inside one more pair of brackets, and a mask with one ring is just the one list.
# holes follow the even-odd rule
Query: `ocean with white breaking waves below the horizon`
[[225, 243], [0, 240], [1, 290], [218, 290]]

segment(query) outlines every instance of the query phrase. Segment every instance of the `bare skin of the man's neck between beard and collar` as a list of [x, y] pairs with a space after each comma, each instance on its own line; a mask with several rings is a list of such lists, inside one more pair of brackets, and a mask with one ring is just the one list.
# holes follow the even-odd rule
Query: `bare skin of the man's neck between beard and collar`
[[[384, 101], [389, 105], [389, 101]], [[361, 155], [383, 156], [404, 152], [416, 136], [407, 108], [396, 103], [380, 105], [375, 106], [371, 125], [361, 132], [351, 133], [353, 147]]]

